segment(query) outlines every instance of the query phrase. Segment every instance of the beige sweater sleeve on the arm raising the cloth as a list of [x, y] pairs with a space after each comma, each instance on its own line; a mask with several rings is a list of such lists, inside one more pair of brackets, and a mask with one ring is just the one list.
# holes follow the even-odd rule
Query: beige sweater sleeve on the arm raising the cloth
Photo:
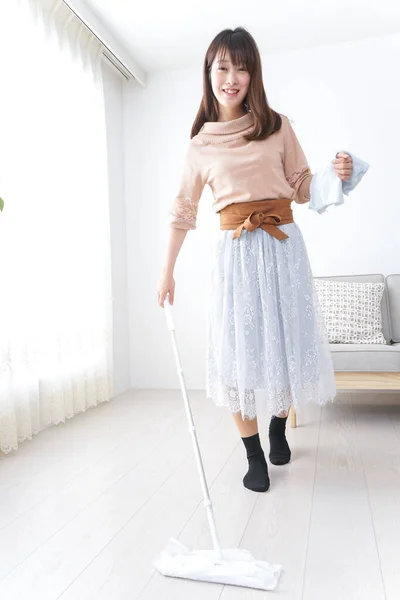
[[283, 169], [286, 181], [296, 192], [294, 201], [304, 204], [310, 200], [312, 173], [290, 121], [284, 115], [282, 115], [282, 127]]

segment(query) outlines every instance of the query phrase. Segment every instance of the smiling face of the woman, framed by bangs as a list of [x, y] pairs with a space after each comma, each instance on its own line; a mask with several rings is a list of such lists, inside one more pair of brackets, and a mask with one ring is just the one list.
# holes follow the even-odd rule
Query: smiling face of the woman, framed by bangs
[[[239, 108], [246, 98], [250, 83], [250, 73], [244, 65], [234, 66], [230, 53], [227, 51], [225, 59], [221, 55], [215, 57], [211, 65], [211, 86], [218, 102], [229, 111]], [[226, 90], [235, 90], [229, 93]]]

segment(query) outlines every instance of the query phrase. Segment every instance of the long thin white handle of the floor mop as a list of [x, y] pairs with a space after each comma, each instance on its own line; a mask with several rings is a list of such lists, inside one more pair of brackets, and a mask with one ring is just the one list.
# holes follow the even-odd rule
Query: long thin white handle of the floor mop
[[172, 347], [174, 349], [178, 377], [179, 377], [179, 381], [180, 381], [180, 385], [181, 385], [183, 399], [185, 402], [186, 415], [187, 415], [188, 423], [189, 423], [189, 431], [192, 435], [194, 455], [196, 458], [197, 469], [198, 469], [198, 472], [200, 475], [200, 483], [201, 483], [201, 488], [202, 488], [202, 492], [203, 492], [204, 506], [207, 511], [208, 524], [210, 527], [211, 538], [213, 541], [214, 550], [217, 554], [217, 560], [222, 562], [223, 556], [222, 556], [221, 545], [220, 545], [219, 539], [218, 539], [217, 527], [215, 524], [213, 505], [212, 505], [212, 502], [210, 499], [210, 493], [209, 493], [209, 489], [208, 489], [208, 485], [207, 485], [206, 475], [204, 472], [204, 465], [203, 465], [203, 460], [201, 457], [199, 441], [197, 439], [196, 427], [194, 424], [193, 414], [192, 414], [192, 410], [190, 407], [189, 397], [187, 394], [183, 369], [182, 369], [182, 365], [181, 365], [181, 361], [180, 361], [180, 357], [179, 357], [178, 345], [176, 342], [175, 325], [174, 325], [174, 321], [172, 319], [171, 305], [169, 303], [168, 298], [164, 302], [164, 310], [165, 310], [165, 316], [167, 319], [167, 327], [168, 327], [168, 330], [171, 332]]

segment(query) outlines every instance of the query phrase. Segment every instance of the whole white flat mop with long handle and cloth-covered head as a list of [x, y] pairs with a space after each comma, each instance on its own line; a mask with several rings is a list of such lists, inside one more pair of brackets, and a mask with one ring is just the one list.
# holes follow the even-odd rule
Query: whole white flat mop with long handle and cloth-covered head
[[256, 560], [247, 550], [239, 548], [231, 550], [221, 549], [215, 524], [213, 505], [210, 499], [200, 446], [193, 421], [193, 414], [179, 358], [175, 326], [168, 298], [165, 300], [164, 310], [167, 326], [171, 332], [172, 346], [174, 349], [182, 395], [185, 402], [189, 431], [192, 435], [194, 454], [200, 475], [204, 506], [207, 511], [214, 550], [190, 551], [178, 540], [170, 538], [167, 546], [155, 559], [154, 566], [162, 573], [162, 575], [166, 575], [167, 577], [181, 577], [184, 579], [237, 585], [259, 590], [274, 590], [282, 571], [281, 565], [271, 565], [267, 562]]

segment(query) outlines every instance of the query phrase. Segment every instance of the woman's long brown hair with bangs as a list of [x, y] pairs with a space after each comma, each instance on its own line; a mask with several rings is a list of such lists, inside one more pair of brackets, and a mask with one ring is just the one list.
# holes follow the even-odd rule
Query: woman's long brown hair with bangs
[[211, 86], [211, 65], [217, 55], [224, 59], [226, 51], [230, 52], [235, 66], [245, 66], [250, 74], [249, 88], [243, 103], [253, 114], [254, 128], [245, 138], [249, 141], [263, 140], [279, 131], [282, 119], [268, 104], [260, 53], [253, 36], [244, 27], [224, 29], [215, 36], [207, 50], [203, 68], [203, 97], [190, 137], [197, 135], [207, 121], [218, 120], [218, 100]]

